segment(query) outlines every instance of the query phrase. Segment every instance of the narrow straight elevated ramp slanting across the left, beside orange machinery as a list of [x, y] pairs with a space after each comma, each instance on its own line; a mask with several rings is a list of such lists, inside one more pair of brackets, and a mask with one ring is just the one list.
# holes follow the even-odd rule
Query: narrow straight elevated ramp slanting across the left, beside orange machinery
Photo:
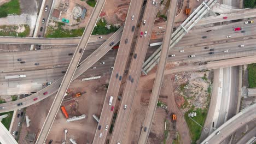
[[[98, 0], [94, 10], [92, 11], [90, 20], [88, 22], [88, 25], [85, 28], [85, 31], [83, 33], [82, 38], [80, 39], [80, 42], [77, 46], [77, 49], [74, 52], [73, 58], [71, 60], [71, 63], [69, 64], [69, 67], [67, 69], [67, 73], [66, 75], [63, 77], [63, 80], [61, 82], [59, 91], [56, 94], [56, 97], [53, 101], [53, 104], [51, 105], [50, 111], [45, 119], [45, 122], [43, 124], [43, 127], [40, 131], [40, 134], [38, 136], [37, 142], [38, 144], [42, 144], [44, 143], [51, 125], [53, 125], [54, 119], [57, 115], [57, 112], [60, 109], [60, 105], [61, 102], [64, 98], [64, 95], [67, 91], [67, 88], [70, 84], [70, 82], [72, 81], [72, 78], [74, 76], [75, 73], [75, 69], [77, 69], [77, 65], [79, 64], [79, 61], [83, 55], [84, 50], [86, 49], [86, 45], [88, 44], [89, 38], [91, 36], [92, 30], [95, 27], [95, 24], [97, 22], [98, 16], [101, 13], [101, 10], [104, 6], [104, 3], [106, 2], [106, 0]], [[97, 56], [95, 56], [95, 58], [97, 58]], [[91, 59], [92, 60], [92, 59]], [[48, 92], [44, 92], [44, 95], [46, 95]]]

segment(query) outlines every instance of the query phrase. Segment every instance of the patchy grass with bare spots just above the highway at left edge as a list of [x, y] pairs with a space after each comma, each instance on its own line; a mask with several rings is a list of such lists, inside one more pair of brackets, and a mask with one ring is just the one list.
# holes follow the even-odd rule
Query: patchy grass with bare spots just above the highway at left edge
[[11, 37], [27, 37], [30, 34], [30, 27], [28, 25], [21, 25], [25, 28], [24, 32], [21, 33], [17, 33], [16, 31], [18, 31], [18, 26], [14, 26], [14, 25], [4, 25], [4, 26], [0, 26], [0, 29], [2, 29], [0, 31], [0, 36], [11, 36]]

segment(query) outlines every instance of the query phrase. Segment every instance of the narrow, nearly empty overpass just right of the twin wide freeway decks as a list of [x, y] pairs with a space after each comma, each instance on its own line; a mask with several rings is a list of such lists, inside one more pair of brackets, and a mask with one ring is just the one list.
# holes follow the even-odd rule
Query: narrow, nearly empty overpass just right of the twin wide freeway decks
[[172, 48], [170, 47], [171, 34], [172, 34], [173, 25], [174, 25], [174, 18], [176, 16], [177, 4], [178, 2], [176, 0], [171, 0], [169, 5], [167, 23], [166, 23], [167, 27], [165, 31], [164, 40], [162, 41], [162, 49], [161, 49], [158, 69], [156, 71], [154, 85], [152, 88], [152, 93], [151, 93], [148, 109], [146, 112], [146, 118], [144, 119], [144, 123], [142, 124], [142, 132], [141, 132], [141, 135], [139, 136], [138, 143], [147, 143], [148, 135], [150, 133], [153, 117], [155, 114], [156, 104], [158, 103], [158, 98], [161, 91], [162, 80], [164, 78], [164, 71], [165, 71], [166, 61], [168, 57], [168, 51], [169, 49]]

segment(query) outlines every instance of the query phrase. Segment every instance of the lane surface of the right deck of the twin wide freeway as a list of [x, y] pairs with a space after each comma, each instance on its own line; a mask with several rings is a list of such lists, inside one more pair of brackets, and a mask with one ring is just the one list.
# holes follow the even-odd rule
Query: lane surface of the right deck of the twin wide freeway
[[[148, 23], [154, 23], [155, 16], [148, 15], [148, 14], [150, 14], [149, 11], [151, 11], [151, 13], [154, 14], [154, 11], [156, 11], [156, 9], [154, 9], [154, 8], [155, 8], [155, 6], [152, 4], [152, 2], [147, 3], [146, 9], [144, 11], [145, 15], [143, 16], [143, 19], [142, 19], [142, 22], [144, 20], [146, 20], [146, 26], [148, 25]], [[154, 9], [154, 11], [152, 9]], [[132, 103], [132, 100], [133, 100], [135, 92], [136, 92], [136, 87], [138, 85], [138, 79], [141, 74], [142, 64], [143, 64], [144, 58], [146, 56], [148, 43], [149, 43], [149, 39], [150, 39], [150, 34], [151, 34], [152, 28], [153, 28], [153, 26], [150, 27], [150, 25], [147, 27], [146, 26], [144, 26], [142, 23], [140, 30], [139, 30], [139, 33], [143, 32], [143, 35], [142, 35], [142, 37], [140, 37], [140, 36], [138, 37], [137, 43], [135, 46], [134, 53], [137, 53], [138, 56], [136, 59], [132, 58], [130, 70], [129, 70], [129, 74], [134, 78], [135, 82], [131, 83], [131, 82], [127, 81], [126, 86], [124, 88], [123, 97], [122, 97], [122, 101], [121, 101], [120, 109], [119, 109], [119, 115], [115, 122], [112, 140], [110, 141], [112, 143], [121, 142], [123, 140], [124, 130], [120, 127], [123, 126], [124, 128], [126, 128], [127, 121], [125, 121], [125, 120], [127, 120], [127, 118], [129, 117], [129, 115], [123, 114], [124, 113], [123, 111], [125, 111], [125, 113], [126, 113], [128, 110], [130, 110], [130, 108], [129, 108], [126, 111], [123, 109], [123, 107], [125, 104], [127, 104], [127, 106], [131, 107], [131, 103]], [[148, 31], [148, 34], [146, 37], [144, 37], [145, 31]], [[129, 92], [127, 92], [128, 89], [129, 89]], [[127, 113], [129, 113], [129, 112], [127, 112]], [[120, 124], [120, 122], [122, 124]]]

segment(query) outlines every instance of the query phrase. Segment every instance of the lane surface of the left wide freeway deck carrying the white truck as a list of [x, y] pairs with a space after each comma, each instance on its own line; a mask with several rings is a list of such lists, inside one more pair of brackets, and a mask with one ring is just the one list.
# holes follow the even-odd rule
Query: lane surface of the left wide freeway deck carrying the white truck
[[[114, 69], [113, 69], [113, 73], [112, 76], [110, 78], [110, 82], [109, 82], [109, 87], [108, 87], [108, 91], [106, 94], [106, 98], [105, 98], [105, 103], [103, 105], [103, 109], [101, 112], [101, 118], [100, 118], [100, 124], [102, 125], [106, 125], [109, 124], [110, 125], [110, 120], [108, 119], [108, 117], [113, 115], [113, 112], [109, 111], [110, 110], [110, 106], [108, 105], [108, 101], [109, 101], [109, 97], [110, 95], [113, 95], [113, 106], [115, 105], [115, 101], [117, 100], [117, 95], [119, 92], [119, 88], [120, 88], [120, 84], [121, 81], [118, 80], [117, 78], [115, 78], [115, 74], [118, 73], [119, 75], [123, 76], [124, 74], [124, 70], [126, 67], [126, 64], [124, 64], [124, 62], [127, 63], [127, 58], [129, 58], [129, 51], [131, 49], [131, 43], [133, 40], [133, 34], [130, 34], [132, 32], [132, 26], [137, 26], [137, 21], [138, 21], [138, 16], [137, 14], [139, 13], [140, 9], [136, 8], [135, 5], [142, 5], [142, 1], [131, 1], [130, 3], [130, 7], [129, 7], [129, 11], [126, 17], [126, 22], [125, 22], [125, 29], [120, 41], [120, 48], [118, 50], [118, 54], [117, 54], [117, 58], [114, 64]], [[134, 7], [133, 7], [134, 6]], [[131, 11], [134, 11], [134, 13], [131, 14]], [[131, 20], [132, 15], [134, 15], [134, 20]], [[135, 28], [136, 29], [136, 28]], [[132, 32], [134, 33], [134, 32]], [[132, 39], [128, 39], [127, 44], [125, 44], [125, 37], [129, 35], [130, 38]], [[120, 60], [119, 60], [120, 59]], [[111, 117], [112, 118], [112, 117]], [[95, 137], [94, 137], [94, 143], [104, 143], [104, 141], [106, 140], [106, 136], [107, 136], [107, 131], [103, 131], [102, 137], [98, 137], [100, 135], [100, 131], [97, 129], [96, 133], [95, 133]]]

